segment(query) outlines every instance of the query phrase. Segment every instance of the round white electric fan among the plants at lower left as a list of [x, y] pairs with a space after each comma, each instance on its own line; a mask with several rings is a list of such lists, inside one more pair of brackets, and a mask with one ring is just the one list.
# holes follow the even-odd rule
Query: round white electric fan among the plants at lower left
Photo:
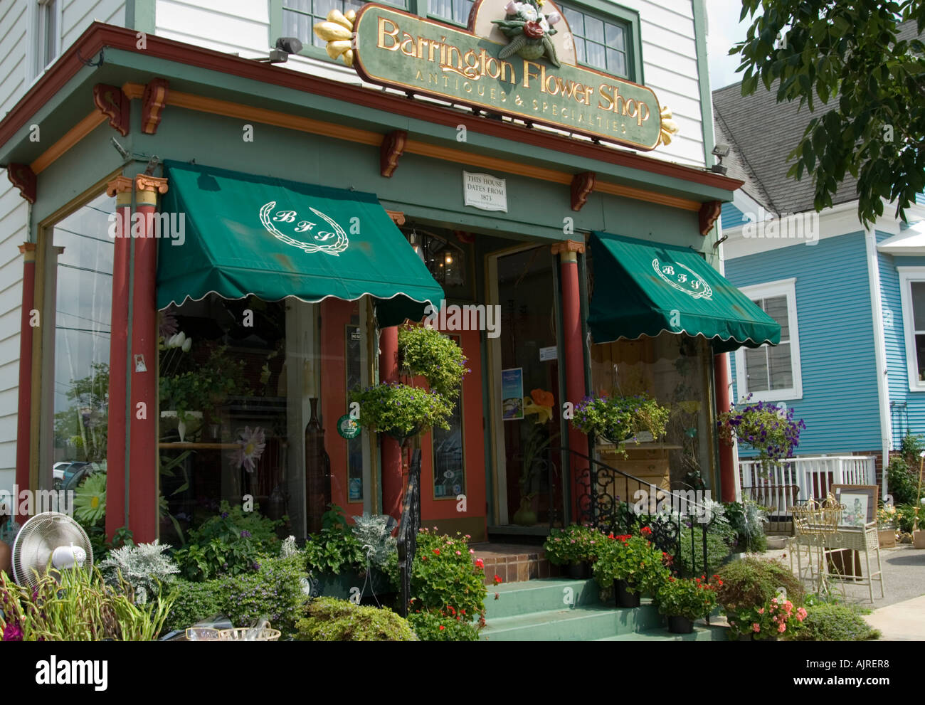
[[13, 541], [13, 579], [18, 585], [36, 587], [49, 570], [93, 567], [93, 549], [87, 532], [59, 512], [36, 514]]

